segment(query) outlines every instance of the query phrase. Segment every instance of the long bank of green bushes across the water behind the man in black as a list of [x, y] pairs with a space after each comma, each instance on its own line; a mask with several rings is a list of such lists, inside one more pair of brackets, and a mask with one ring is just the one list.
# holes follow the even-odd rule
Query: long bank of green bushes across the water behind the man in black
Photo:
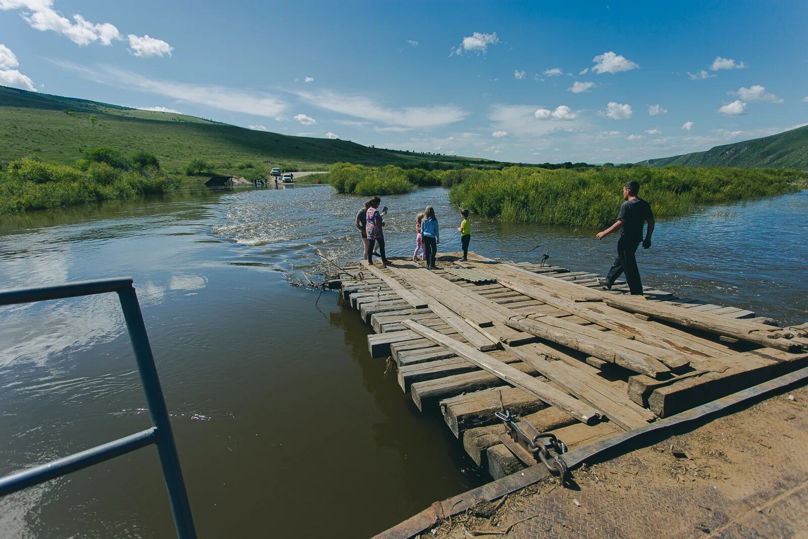
[[[636, 180], [657, 217], [691, 213], [701, 204], [758, 199], [798, 191], [808, 173], [774, 169], [633, 166], [545, 170], [511, 166], [462, 171], [449, 200], [503, 221], [603, 227], [617, 218], [621, 187]], [[451, 173], [448, 173], [451, 174]]]

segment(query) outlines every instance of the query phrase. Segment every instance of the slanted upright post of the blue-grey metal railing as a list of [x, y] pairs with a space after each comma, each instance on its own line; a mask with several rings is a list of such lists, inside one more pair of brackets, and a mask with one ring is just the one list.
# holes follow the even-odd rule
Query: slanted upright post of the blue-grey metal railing
[[154, 364], [154, 356], [149, 345], [149, 335], [146, 334], [143, 314], [141, 314], [141, 307], [137, 302], [137, 294], [131, 284], [126, 288], [119, 289], [117, 293], [120, 306], [124, 311], [124, 320], [129, 331], [129, 339], [132, 341], [138, 371], [141, 374], [143, 391], [149, 405], [149, 414], [151, 415], [152, 424], [157, 427], [157, 448], [162, 473], [166, 479], [166, 490], [171, 503], [171, 512], [174, 514], [177, 537], [179, 539], [196, 539], [196, 529], [191, 516], [191, 505], [188, 503], [183, 472], [179, 466], [179, 457], [177, 456], [174, 435], [171, 432], [166, 400], [162, 395], [157, 367]]

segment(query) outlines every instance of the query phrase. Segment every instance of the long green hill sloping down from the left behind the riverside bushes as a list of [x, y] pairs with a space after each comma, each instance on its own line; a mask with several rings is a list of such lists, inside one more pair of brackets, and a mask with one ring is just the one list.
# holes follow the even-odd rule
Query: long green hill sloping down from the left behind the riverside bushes
[[[95, 117], [93, 117], [95, 116]], [[225, 163], [263, 162], [298, 170], [324, 170], [335, 162], [364, 165], [461, 162], [486, 159], [368, 148], [351, 141], [291, 137], [170, 112], [141, 111], [0, 86], [0, 162], [36, 156], [72, 164], [82, 151], [114, 146], [155, 154], [164, 170], [179, 172], [194, 157]]]

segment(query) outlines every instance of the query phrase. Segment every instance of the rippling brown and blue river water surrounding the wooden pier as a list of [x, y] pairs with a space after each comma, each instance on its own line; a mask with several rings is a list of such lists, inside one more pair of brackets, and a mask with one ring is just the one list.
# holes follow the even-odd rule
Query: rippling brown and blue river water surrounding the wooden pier
[[[411, 255], [426, 204], [459, 248], [446, 193], [385, 197], [389, 253]], [[0, 283], [133, 276], [200, 537], [365, 537], [483, 479], [368, 356], [358, 314], [288, 283], [360, 254], [359, 207], [298, 185], [3, 217]], [[477, 252], [545, 243], [551, 263], [601, 274], [613, 258], [589, 229], [472, 226]], [[806, 237], [802, 192], [661, 221], [638, 259], [646, 284], [802, 322]], [[147, 427], [114, 295], [0, 309], [0, 474]], [[153, 447], [0, 499], [0, 537], [171, 533]]]

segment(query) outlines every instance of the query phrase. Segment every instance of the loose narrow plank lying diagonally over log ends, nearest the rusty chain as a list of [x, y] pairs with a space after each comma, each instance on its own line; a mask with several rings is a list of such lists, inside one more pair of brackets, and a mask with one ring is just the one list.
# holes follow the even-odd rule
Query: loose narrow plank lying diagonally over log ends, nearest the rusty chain
[[580, 402], [578, 399], [570, 397], [570, 395], [562, 391], [555, 390], [548, 385], [538, 382], [535, 378], [528, 374], [522, 373], [520, 370], [511, 367], [502, 361], [495, 360], [490, 356], [480, 352], [476, 348], [470, 347], [468, 344], [458, 343], [454, 339], [449, 339], [445, 335], [441, 335], [437, 331], [432, 331], [427, 326], [423, 326], [418, 322], [411, 322], [409, 320], [402, 322], [410, 330], [423, 335], [427, 339], [440, 344], [443, 347], [452, 350], [458, 356], [471, 363], [476, 364], [478, 367], [485, 369], [489, 373], [495, 374], [502, 378], [507, 383], [515, 385], [516, 387], [532, 394], [536, 398], [557, 407], [559, 410], [565, 411], [575, 419], [582, 423], [593, 423], [600, 413], [595, 411], [594, 408], [587, 404]]

